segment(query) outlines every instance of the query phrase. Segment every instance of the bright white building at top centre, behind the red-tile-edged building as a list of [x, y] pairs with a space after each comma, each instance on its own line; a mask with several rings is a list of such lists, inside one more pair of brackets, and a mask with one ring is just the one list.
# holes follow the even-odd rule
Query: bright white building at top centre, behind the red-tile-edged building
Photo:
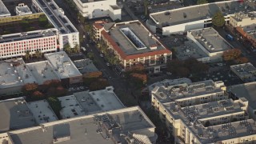
[[78, 0], [74, 1], [80, 14], [86, 18], [110, 17], [121, 20], [122, 9], [116, 0]]

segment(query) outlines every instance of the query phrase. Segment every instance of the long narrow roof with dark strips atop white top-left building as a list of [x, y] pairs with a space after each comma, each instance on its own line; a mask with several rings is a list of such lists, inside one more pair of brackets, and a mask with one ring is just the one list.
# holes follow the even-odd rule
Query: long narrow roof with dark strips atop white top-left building
[[[62, 34], [78, 33], [78, 30], [66, 17], [64, 11], [58, 7], [53, 0], [36, 0], [41, 7], [42, 11], [50, 19], [55, 28], [57, 28]], [[62, 14], [63, 12], [63, 14]]]

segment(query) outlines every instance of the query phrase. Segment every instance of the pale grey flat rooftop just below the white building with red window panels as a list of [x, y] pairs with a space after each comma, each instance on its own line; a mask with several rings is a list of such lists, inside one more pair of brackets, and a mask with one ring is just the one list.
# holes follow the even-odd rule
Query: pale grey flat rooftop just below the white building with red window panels
[[70, 78], [76, 76], [82, 76], [79, 70], [74, 66], [74, 63], [70, 60], [69, 56], [60, 51], [52, 54], [45, 54], [46, 59], [53, 66], [58, 78]]

